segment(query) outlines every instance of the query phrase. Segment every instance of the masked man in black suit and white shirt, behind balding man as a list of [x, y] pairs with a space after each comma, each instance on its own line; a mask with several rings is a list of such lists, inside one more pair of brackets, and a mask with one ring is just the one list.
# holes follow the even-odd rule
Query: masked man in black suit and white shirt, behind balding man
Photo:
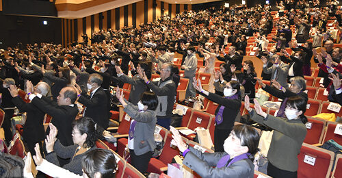
[[103, 129], [107, 129], [109, 125], [107, 94], [101, 87], [102, 77], [97, 73], [89, 76], [87, 87], [90, 90], [90, 95], [83, 93], [81, 88], [77, 87], [77, 95], [79, 95], [79, 103], [86, 105], [83, 111], [83, 116], [90, 117], [95, 123]]

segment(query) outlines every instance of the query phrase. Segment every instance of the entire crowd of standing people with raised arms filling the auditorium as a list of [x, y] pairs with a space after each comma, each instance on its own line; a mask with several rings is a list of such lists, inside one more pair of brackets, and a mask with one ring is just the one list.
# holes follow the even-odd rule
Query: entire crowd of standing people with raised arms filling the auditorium
[[[329, 101], [342, 104], [342, 49], [334, 47], [334, 42], [341, 40], [327, 28], [328, 19], [336, 19], [334, 26], [342, 30], [338, 4], [335, 0], [326, 5], [320, 1], [280, 1], [275, 15], [271, 13], [275, 7], [269, 4], [185, 11], [174, 18], [161, 16], [139, 28], [96, 31], [90, 42], [83, 36], [83, 42], [68, 47], [41, 43], [0, 49], [5, 143], [12, 140], [11, 118], [18, 109], [27, 112], [23, 141], [42, 173], [114, 177], [117, 164], [113, 153], [96, 149], [95, 142], [109, 127], [111, 99], [116, 97], [133, 119], [128, 148], [131, 164], [141, 173], [147, 174], [156, 148], [153, 134], [160, 125], [170, 129], [185, 165], [198, 175], [253, 177], [259, 133], [248, 125], [234, 125], [244, 101], [251, 120], [274, 130], [267, 174], [297, 177], [297, 155], [306, 136], [304, 75], [311, 75], [312, 58], [320, 68], [319, 77], [324, 77], [322, 87], [327, 88]], [[272, 34], [274, 28], [276, 34]], [[261, 77], [270, 80], [270, 86], [257, 77], [253, 60], [243, 62], [249, 55], [248, 38], [255, 38], [255, 56], [263, 64]], [[269, 49], [271, 43], [274, 45]], [[324, 48], [317, 52], [318, 47]], [[173, 64], [175, 55], [181, 56], [181, 66]], [[203, 66], [198, 60], [203, 60]], [[215, 61], [223, 62], [219, 70], [215, 70]], [[208, 90], [196, 78], [200, 67], [211, 74]], [[170, 126], [174, 103], [180, 102], [176, 101], [179, 71], [189, 79], [186, 99], [191, 101], [199, 94], [218, 103], [215, 153], [189, 147]], [[151, 80], [153, 74], [159, 79]], [[257, 83], [282, 99], [275, 116], [263, 112], [262, 103], [255, 99]], [[124, 84], [131, 84], [128, 101], [120, 90]], [[116, 88], [112, 91], [115, 94], [111, 94], [111, 87]], [[18, 88], [25, 90], [29, 102], [21, 98]], [[46, 131], [45, 114], [52, 116]], [[31, 164], [27, 159], [26, 177], [31, 177]]]

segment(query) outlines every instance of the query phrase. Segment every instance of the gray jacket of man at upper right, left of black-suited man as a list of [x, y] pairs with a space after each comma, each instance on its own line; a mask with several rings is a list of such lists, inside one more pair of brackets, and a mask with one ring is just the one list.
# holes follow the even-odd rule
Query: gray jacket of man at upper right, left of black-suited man
[[285, 64], [284, 62], [282, 62], [281, 64], [279, 64], [278, 67], [273, 65], [267, 68], [266, 66], [263, 68], [263, 72], [267, 74], [272, 73], [271, 79], [274, 79], [274, 74], [276, 73], [276, 81], [278, 81], [281, 86], [289, 88], [289, 84], [287, 84], [287, 75], [289, 75], [289, 64]]

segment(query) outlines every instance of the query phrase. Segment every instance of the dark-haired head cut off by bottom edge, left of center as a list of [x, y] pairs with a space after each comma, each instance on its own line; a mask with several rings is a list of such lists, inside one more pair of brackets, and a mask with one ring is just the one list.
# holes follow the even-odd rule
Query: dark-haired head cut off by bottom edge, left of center
[[107, 149], [93, 149], [82, 159], [82, 168], [88, 177], [94, 177], [97, 172], [102, 178], [115, 177], [117, 167], [114, 153]]

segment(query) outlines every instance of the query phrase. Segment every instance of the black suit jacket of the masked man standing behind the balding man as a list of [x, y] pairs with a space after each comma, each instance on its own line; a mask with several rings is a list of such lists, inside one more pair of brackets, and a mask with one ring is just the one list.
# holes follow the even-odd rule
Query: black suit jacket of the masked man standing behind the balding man
[[103, 129], [107, 129], [109, 122], [107, 94], [102, 87], [94, 92], [91, 99], [89, 95], [79, 96], [79, 103], [86, 105], [84, 116], [92, 118]]

